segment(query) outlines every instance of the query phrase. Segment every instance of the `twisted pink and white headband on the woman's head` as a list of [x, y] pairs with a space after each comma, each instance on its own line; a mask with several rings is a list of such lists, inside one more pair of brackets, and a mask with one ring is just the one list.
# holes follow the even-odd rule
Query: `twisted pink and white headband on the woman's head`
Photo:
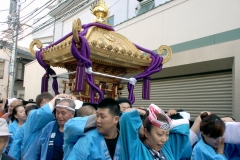
[[[148, 119], [154, 126], [161, 129], [168, 129], [168, 130], [170, 129], [170, 123], [172, 122], [172, 120], [165, 114], [165, 112], [161, 108], [159, 108], [155, 104], [150, 104], [148, 111], [149, 111]], [[157, 120], [156, 114], [164, 115], [168, 119], [169, 124]]]

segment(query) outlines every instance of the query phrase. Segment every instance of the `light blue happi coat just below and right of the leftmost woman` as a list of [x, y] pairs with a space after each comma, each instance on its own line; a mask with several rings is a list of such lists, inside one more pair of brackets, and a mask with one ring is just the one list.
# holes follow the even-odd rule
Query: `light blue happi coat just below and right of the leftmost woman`
[[16, 132], [13, 137], [12, 147], [10, 148], [8, 155], [15, 158], [16, 160], [21, 160], [22, 157], [22, 141], [24, 137], [25, 124], [23, 124]]

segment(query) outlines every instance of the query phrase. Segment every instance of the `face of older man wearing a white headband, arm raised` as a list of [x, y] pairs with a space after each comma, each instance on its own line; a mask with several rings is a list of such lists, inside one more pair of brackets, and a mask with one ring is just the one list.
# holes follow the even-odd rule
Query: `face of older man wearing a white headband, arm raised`
[[[68, 102], [60, 102], [59, 105], [68, 106]], [[64, 126], [64, 124], [71, 118], [74, 117], [74, 113], [65, 108], [56, 108], [56, 119], [59, 126]]]

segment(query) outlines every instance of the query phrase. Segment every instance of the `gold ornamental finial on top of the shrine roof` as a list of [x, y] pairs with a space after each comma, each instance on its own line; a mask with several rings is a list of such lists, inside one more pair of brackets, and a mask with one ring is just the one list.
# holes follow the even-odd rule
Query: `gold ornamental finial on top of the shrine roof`
[[91, 5], [92, 14], [96, 16], [96, 22], [107, 22], [109, 8], [106, 6], [104, 0], [96, 0]]

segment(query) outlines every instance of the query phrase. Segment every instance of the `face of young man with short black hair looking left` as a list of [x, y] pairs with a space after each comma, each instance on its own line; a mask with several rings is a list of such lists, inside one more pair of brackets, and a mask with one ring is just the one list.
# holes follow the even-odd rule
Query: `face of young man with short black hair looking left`
[[111, 132], [118, 123], [119, 116], [112, 115], [109, 112], [109, 108], [97, 109], [97, 129], [98, 132], [105, 135]]

